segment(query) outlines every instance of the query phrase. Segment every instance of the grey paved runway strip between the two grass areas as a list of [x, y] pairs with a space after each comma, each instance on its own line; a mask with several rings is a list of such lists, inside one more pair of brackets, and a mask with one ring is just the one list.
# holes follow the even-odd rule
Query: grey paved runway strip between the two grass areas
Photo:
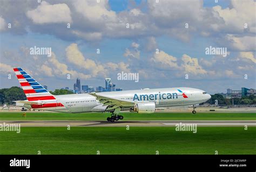
[[197, 126], [254, 126], [256, 120], [119, 120], [114, 123], [109, 121], [85, 121], [85, 120], [0, 120], [1, 124], [21, 124], [21, 127], [173, 127], [177, 124], [197, 124]]

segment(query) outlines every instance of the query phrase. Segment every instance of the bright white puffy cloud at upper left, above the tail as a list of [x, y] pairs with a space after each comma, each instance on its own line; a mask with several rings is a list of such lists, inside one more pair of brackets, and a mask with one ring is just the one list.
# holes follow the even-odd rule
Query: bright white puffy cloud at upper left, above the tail
[[26, 12], [26, 16], [35, 24], [71, 23], [71, 12], [66, 4], [54, 4], [43, 1], [35, 10]]

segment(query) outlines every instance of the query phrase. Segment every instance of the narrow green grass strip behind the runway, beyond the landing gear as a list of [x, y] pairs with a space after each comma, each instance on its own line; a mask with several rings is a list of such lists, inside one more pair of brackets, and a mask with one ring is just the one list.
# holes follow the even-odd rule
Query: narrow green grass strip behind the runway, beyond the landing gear
[[[106, 120], [110, 113], [1, 112], [0, 120]], [[124, 120], [256, 120], [256, 113], [121, 113]]]

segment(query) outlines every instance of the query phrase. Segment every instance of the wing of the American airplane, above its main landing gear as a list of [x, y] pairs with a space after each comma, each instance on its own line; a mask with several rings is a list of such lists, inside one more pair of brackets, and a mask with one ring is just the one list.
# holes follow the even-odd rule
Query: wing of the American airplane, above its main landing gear
[[118, 107], [120, 108], [133, 107], [135, 105], [134, 101], [125, 101], [122, 99], [116, 99], [116, 98], [107, 97], [107, 96], [99, 96], [96, 93], [89, 93], [89, 94], [96, 97], [99, 103], [102, 103], [103, 105], [107, 106], [106, 110], [114, 110], [114, 109], [117, 109]]

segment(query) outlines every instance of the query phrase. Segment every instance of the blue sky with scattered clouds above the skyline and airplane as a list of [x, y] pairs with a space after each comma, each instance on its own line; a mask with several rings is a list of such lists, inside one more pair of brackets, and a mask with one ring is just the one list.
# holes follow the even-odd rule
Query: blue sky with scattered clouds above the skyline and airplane
[[123, 90], [255, 89], [255, 11], [253, 0], [0, 0], [0, 89], [19, 86], [15, 67], [48, 90], [105, 77]]

